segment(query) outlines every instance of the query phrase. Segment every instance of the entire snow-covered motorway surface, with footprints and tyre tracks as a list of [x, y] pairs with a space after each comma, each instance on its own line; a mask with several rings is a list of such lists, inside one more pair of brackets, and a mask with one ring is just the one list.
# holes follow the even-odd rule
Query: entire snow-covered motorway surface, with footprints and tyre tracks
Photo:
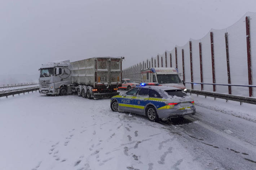
[[218, 100], [194, 99], [195, 116], [154, 123], [112, 112], [109, 99], [38, 92], [1, 98], [0, 170], [254, 169], [253, 114], [249, 121], [240, 118], [244, 112], [214, 110]]

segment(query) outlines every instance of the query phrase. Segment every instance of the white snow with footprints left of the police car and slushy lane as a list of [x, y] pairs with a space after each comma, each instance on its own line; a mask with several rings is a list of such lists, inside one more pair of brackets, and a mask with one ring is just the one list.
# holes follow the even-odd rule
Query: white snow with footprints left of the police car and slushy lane
[[1, 170], [202, 169], [162, 124], [112, 112], [109, 99], [37, 92], [0, 108]]

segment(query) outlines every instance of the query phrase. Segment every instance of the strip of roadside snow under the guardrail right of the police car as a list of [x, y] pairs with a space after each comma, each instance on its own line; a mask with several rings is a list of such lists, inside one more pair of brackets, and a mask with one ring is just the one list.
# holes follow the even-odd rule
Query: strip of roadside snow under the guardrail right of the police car
[[256, 123], [256, 105], [248, 103], [243, 103], [242, 105], [240, 105], [240, 103], [237, 101], [229, 100], [228, 102], [226, 102], [225, 99], [216, 98], [216, 100], [214, 100], [214, 97], [207, 96], [207, 98], [205, 98], [201, 95], [197, 97], [197, 95], [192, 93], [191, 97], [194, 98], [196, 106], [216, 110], [225, 114], [230, 114]]

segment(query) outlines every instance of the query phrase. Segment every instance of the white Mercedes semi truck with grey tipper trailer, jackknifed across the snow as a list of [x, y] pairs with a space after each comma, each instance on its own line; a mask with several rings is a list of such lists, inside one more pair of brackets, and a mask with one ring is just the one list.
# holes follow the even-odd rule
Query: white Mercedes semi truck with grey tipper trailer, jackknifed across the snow
[[39, 93], [48, 96], [77, 93], [89, 99], [118, 95], [118, 87], [122, 86], [123, 59], [95, 57], [42, 64], [39, 69]]

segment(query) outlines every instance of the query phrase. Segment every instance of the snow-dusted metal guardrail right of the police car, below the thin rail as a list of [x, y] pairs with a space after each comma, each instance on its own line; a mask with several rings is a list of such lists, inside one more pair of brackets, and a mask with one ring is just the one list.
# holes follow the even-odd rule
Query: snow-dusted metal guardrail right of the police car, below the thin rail
[[188, 93], [193, 93], [198, 95], [202, 95], [202, 96], [209, 96], [209, 97], [214, 97], [214, 99], [216, 100], [216, 98], [222, 98], [225, 99], [226, 102], [228, 102], [228, 100], [233, 100], [233, 101], [238, 101], [240, 102], [240, 105], [242, 105], [242, 103], [249, 103], [249, 104], [255, 104], [256, 105], [256, 98], [253, 97], [243, 97], [243, 96], [235, 96], [235, 95], [227, 95], [227, 94], [221, 94], [221, 93], [215, 93], [215, 92], [205, 92], [205, 91], [199, 91], [199, 90], [192, 90], [192, 89], [187, 89]]

